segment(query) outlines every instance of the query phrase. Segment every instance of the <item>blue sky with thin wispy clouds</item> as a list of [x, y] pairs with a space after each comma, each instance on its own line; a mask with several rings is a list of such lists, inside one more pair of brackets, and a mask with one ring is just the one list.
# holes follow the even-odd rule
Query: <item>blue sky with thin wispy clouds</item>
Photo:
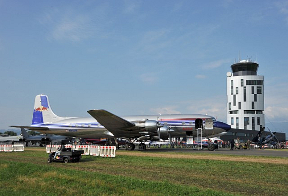
[[226, 73], [264, 75], [265, 122], [288, 134], [287, 1], [0, 0], [0, 129], [37, 94], [63, 117], [208, 114], [227, 122]]

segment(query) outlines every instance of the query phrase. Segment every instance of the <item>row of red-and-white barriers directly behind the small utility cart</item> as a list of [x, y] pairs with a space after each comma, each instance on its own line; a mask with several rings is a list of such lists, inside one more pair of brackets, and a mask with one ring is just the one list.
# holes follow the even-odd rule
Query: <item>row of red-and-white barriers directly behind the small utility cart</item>
[[[56, 152], [61, 145], [46, 145], [46, 153]], [[100, 157], [115, 157], [116, 146], [99, 146], [99, 145], [65, 145], [65, 148], [79, 151], [83, 150], [82, 155], [100, 156]]]

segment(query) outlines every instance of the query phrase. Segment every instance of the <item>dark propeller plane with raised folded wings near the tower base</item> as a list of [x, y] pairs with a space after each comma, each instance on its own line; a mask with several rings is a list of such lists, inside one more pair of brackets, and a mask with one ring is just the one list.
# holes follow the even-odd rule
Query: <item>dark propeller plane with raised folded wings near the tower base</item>
[[265, 127], [260, 129], [257, 136], [252, 139], [252, 143], [257, 144], [257, 145], [271, 144], [273, 146], [277, 146], [277, 143], [279, 142], [279, 140], [275, 136], [276, 132], [272, 133], [272, 131], [270, 131], [270, 129], [268, 128], [271, 135], [262, 136], [264, 133], [264, 130], [265, 130]]

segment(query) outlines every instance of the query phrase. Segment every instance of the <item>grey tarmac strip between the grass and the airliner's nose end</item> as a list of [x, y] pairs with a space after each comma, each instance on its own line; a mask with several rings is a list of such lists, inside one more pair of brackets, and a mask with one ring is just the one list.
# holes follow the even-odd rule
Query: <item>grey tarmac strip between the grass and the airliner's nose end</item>
[[[142, 150], [140, 150], [142, 151]], [[243, 155], [243, 156], [263, 156], [263, 157], [288, 157], [288, 149], [250, 149], [250, 150], [233, 150], [230, 149], [216, 149], [215, 151], [197, 150], [193, 148], [150, 148], [145, 150], [147, 152], [185, 152], [185, 153], [207, 153], [220, 155]]]

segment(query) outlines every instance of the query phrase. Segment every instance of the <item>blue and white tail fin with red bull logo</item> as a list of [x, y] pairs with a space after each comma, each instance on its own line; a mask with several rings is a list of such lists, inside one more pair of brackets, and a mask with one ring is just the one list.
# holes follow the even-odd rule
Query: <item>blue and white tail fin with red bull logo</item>
[[62, 119], [64, 118], [57, 116], [52, 111], [47, 95], [44, 94], [36, 95], [32, 125], [46, 124]]

